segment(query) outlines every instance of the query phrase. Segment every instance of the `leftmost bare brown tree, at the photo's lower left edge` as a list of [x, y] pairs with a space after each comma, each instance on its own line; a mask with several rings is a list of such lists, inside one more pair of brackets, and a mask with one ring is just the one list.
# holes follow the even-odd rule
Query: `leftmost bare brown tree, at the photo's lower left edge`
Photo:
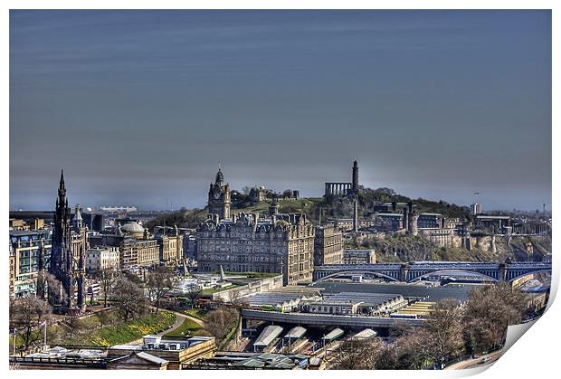
[[[28, 296], [10, 303], [10, 327], [17, 330], [17, 334], [24, 340], [24, 349], [41, 339], [37, 332], [43, 321], [51, 315], [51, 307], [42, 298]], [[46, 326], [45, 326], [46, 327]]]

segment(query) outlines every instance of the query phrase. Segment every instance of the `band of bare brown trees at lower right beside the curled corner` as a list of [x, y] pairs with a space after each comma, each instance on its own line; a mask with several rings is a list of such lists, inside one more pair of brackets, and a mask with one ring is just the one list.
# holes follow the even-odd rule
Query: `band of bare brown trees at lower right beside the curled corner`
[[421, 327], [398, 326], [393, 341], [374, 337], [339, 346], [338, 369], [418, 370], [438, 368], [462, 355], [476, 355], [501, 347], [509, 325], [520, 323], [528, 297], [508, 283], [471, 290], [461, 304], [445, 298], [438, 301]]

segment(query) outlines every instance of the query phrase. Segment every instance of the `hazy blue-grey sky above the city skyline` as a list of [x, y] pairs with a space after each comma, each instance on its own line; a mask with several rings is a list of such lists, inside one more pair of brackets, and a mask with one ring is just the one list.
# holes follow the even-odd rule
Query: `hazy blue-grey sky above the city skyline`
[[[13, 11], [10, 207], [326, 181], [551, 204], [549, 11]], [[472, 193], [482, 192], [478, 197]]]

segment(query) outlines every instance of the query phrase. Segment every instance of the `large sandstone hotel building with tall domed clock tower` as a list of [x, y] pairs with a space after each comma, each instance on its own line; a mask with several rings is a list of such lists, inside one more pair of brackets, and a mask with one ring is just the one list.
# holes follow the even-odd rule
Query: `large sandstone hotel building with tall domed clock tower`
[[315, 229], [305, 214], [278, 213], [276, 199], [269, 217], [237, 213], [230, 217], [228, 185], [219, 170], [208, 198], [209, 218], [196, 232], [201, 271], [282, 273], [285, 285], [312, 280]]

